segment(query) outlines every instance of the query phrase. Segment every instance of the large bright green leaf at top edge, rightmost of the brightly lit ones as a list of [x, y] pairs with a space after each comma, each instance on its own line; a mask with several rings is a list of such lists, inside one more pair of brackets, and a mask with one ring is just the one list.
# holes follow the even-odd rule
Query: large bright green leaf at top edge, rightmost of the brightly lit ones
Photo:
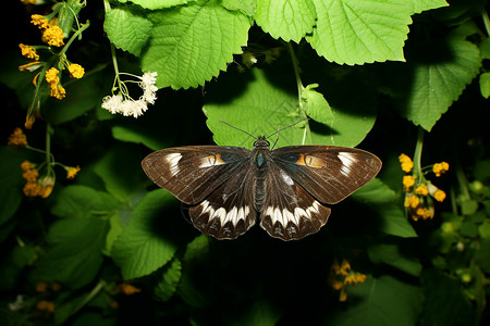
[[307, 41], [339, 64], [405, 61], [413, 9], [405, 0], [314, 0], [317, 25]]

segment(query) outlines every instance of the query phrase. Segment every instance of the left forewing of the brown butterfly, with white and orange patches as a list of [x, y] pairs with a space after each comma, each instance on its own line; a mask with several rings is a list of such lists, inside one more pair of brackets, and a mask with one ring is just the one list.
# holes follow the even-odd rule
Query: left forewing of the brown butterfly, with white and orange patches
[[240, 147], [187, 146], [156, 151], [142, 166], [158, 186], [186, 204], [197, 204], [247, 164]]

